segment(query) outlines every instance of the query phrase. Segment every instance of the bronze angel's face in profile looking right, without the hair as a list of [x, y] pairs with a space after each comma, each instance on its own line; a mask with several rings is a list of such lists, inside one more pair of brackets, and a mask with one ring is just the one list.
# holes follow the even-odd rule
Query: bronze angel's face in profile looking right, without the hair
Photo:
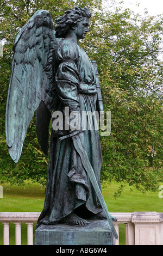
[[83, 17], [82, 21], [79, 21], [76, 28], [73, 31], [78, 39], [84, 39], [87, 32], [89, 32], [89, 19]]

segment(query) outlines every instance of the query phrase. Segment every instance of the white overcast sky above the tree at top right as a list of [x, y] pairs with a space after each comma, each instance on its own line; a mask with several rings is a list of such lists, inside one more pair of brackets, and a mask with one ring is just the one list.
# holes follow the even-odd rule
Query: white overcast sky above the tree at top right
[[[104, 0], [106, 5], [110, 5], [110, 0]], [[163, 14], [163, 1], [162, 0], [122, 0], [124, 4], [124, 8], [129, 8], [133, 10], [135, 13], [140, 13], [143, 15], [145, 13], [145, 9], [148, 10], [150, 15], [159, 15]], [[116, 0], [117, 3], [120, 3], [121, 0]], [[139, 6], [137, 6], [139, 4]]]

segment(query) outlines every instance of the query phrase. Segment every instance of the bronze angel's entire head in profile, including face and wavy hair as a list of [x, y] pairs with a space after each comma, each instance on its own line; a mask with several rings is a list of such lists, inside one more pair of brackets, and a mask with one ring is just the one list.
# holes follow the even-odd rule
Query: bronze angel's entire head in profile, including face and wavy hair
[[84, 38], [88, 32], [91, 11], [88, 8], [74, 7], [65, 11], [65, 15], [56, 20], [55, 37], [65, 38], [68, 32], [76, 31], [78, 38]]

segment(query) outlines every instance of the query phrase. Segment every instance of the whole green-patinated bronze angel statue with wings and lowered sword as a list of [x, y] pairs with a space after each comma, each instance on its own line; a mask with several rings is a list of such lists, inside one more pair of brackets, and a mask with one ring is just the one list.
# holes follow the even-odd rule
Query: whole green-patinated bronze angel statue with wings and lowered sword
[[[13, 50], [6, 111], [6, 138], [15, 162], [21, 156], [30, 121], [36, 111], [37, 138], [49, 154], [46, 196], [37, 221], [40, 224], [89, 225], [89, 220], [108, 219], [100, 182], [102, 152], [96, 129], [65, 129], [70, 114], [99, 111], [97, 70], [79, 47], [89, 31], [91, 12], [75, 7], [56, 20], [46, 10], [38, 10], [18, 33]], [[102, 101], [100, 102], [102, 104]], [[52, 129], [52, 113], [60, 111], [62, 129]], [[70, 117], [70, 115], [69, 115]], [[82, 125], [82, 124], [81, 124]], [[95, 123], [93, 123], [95, 126]], [[48, 153], [49, 151], [49, 153]]]

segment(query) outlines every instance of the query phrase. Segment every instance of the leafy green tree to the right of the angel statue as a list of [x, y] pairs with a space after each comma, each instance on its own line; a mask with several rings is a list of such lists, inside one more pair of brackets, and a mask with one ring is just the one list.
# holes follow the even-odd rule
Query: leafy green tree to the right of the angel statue
[[162, 17], [99, 14], [87, 38], [97, 60], [111, 135], [102, 137], [103, 180], [156, 191], [162, 179]]

